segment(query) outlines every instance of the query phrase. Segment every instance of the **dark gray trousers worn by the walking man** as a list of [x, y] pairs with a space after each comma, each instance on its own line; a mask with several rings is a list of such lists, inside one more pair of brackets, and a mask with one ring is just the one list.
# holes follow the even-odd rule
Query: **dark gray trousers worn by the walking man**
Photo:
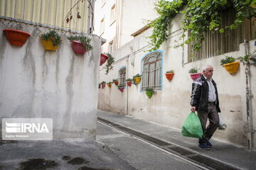
[[[210, 140], [210, 137], [213, 136], [213, 133], [218, 128], [220, 121], [215, 103], [208, 103], [208, 113], [198, 112], [198, 118], [200, 119], [203, 128], [203, 138], [199, 139], [198, 142], [206, 143], [206, 140]], [[206, 128], [206, 123], [208, 119], [210, 123]]]

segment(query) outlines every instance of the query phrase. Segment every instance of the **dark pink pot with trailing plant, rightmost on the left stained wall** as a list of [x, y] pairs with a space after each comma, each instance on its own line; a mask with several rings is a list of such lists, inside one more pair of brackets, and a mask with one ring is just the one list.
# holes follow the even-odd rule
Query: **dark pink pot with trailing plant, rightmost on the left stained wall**
[[90, 45], [90, 38], [85, 35], [71, 35], [68, 40], [72, 42], [72, 48], [77, 55], [84, 55], [85, 52], [92, 50], [92, 45]]

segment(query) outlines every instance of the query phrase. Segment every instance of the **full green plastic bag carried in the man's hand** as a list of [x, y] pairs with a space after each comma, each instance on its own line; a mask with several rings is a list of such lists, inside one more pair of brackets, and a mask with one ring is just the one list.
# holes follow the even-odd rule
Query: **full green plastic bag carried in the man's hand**
[[186, 137], [202, 138], [203, 129], [196, 113], [191, 112], [183, 122], [181, 134]]

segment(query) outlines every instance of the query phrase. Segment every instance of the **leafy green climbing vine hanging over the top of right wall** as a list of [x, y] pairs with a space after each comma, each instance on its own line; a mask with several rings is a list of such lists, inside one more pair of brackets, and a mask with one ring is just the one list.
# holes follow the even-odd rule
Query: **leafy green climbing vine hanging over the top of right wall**
[[[149, 21], [149, 26], [153, 28], [149, 36], [151, 49], [156, 50], [168, 38], [167, 30], [171, 22], [178, 13], [183, 13], [182, 21], [183, 31], [190, 31], [186, 44], [194, 42], [193, 50], [199, 50], [204, 40], [203, 33], [208, 30], [225, 33], [225, 30], [235, 30], [240, 26], [245, 18], [256, 17], [255, 6], [256, 0], [233, 0], [228, 3], [227, 0], [160, 0], [156, 4], [156, 11], [159, 17], [154, 21]], [[187, 5], [187, 8], [184, 6]], [[235, 21], [230, 26], [221, 27], [221, 11], [223, 8], [232, 6], [235, 8]], [[186, 35], [183, 34], [183, 37]], [[181, 44], [183, 45], [183, 44]]]

